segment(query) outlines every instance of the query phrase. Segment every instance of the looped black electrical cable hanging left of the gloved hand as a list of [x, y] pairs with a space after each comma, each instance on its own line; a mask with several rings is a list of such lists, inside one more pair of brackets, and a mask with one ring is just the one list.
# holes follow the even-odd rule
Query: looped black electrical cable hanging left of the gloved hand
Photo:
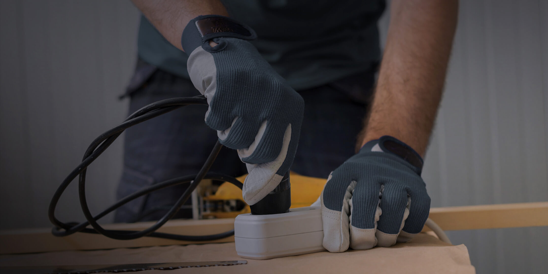
[[[168, 238], [168, 239], [178, 239], [182, 241], [211, 241], [214, 239], [220, 239], [220, 238], [225, 238], [225, 237], [234, 235], [234, 230], [222, 232], [215, 235], [206, 235], [206, 236], [175, 235], [175, 234], [169, 234], [169, 233], [155, 232], [157, 229], [159, 229], [159, 227], [165, 224], [165, 222], [167, 222], [169, 219], [175, 216], [175, 214], [178, 212], [180, 207], [190, 198], [192, 191], [196, 189], [198, 184], [203, 179], [227, 181], [238, 186], [240, 189], [242, 188], [243, 186], [242, 183], [236, 180], [236, 178], [233, 178], [232, 176], [217, 174], [217, 173], [208, 173], [208, 170], [212, 167], [216, 156], [218, 155], [220, 149], [222, 148], [222, 145], [219, 143], [219, 141], [216, 142], [212, 152], [210, 153], [206, 162], [203, 164], [202, 168], [199, 170], [198, 174], [182, 176], [179, 178], [163, 181], [149, 187], [145, 187], [144, 189], [141, 189], [138, 192], [135, 192], [127, 197], [124, 197], [123, 199], [116, 202], [111, 207], [105, 209], [104, 211], [102, 211], [96, 216], [93, 216], [89, 211], [89, 207], [85, 198], [85, 172], [88, 165], [91, 164], [97, 157], [99, 157], [99, 155], [101, 155], [101, 153], [104, 152], [107, 149], [107, 147], [109, 147], [112, 144], [112, 142], [115, 141], [116, 138], [118, 138], [118, 136], [121, 135], [125, 129], [132, 127], [135, 124], [147, 121], [149, 119], [152, 119], [154, 117], [167, 113], [169, 111], [179, 109], [180, 107], [183, 107], [186, 105], [207, 105], [207, 100], [206, 98], [204, 98], [203, 95], [200, 95], [200, 96], [195, 96], [190, 98], [172, 98], [172, 99], [166, 99], [166, 100], [154, 102], [150, 105], [142, 107], [138, 111], [135, 111], [132, 115], [130, 115], [127, 119], [125, 119], [123, 123], [117, 125], [116, 127], [110, 129], [109, 131], [101, 134], [98, 138], [96, 138], [92, 142], [92, 144], [89, 145], [87, 151], [85, 152], [84, 157], [82, 159], [82, 163], [80, 163], [74, 170], [72, 170], [72, 172], [67, 176], [67, 178], [65, 178], [65, 180], [61, 183], [61, 185], [58, 187], [57, 191], [55, 192], [54, 196], [52, 197], [52, 201], [50, 202], [49, 209], [48, 209], [48, 216], [52, 224], [55, 225], [55, 227], [52, 229], [53, 235], [68, 236], [76, 232], [86, 232], [86, 233], [100, 233], [102, 235], [105, 235], [107, 237], [114, 238], [114, 239], [135, 239], [135, 238], [140, 238], [144, 236], [149, 236], [149, 237], [159, 237], [159, 238]], [[75, 222], [70, 222], [70, 223], [61, 222], [55, 217], [55, 207], [57, 206], [59, 199], [62, 193], [65, 191], [66, 187], [76, 178], [76, 176], [79, 176], [78, 196], [80, 199], [80, 205], [84, 213], [85, 219], [87, 221], [82, 222], [80, 224]], [[148, 229], [145, 229], [142, 231], [105, 230], [97, 223], [97, 220], [99, 220], [106, 214], [111, 213], [113, 210], [123, 206], [123, 204], [125, 203], [133, 201], [134, 199], [139, 198], [148, 193], [151, 193], [152, 191], [156, 191], [159, 189], [163, 189], [165, 187], [174, 186], [178, 184], [185, 184], [187, 182], [190, 182], [189, 187], [181, 195], [181, 197], [174, 204], [174, 206], [170, 208], [169, 211], [160, 220], [156, 222], [156, 224], [152, 225]], [[88, 229], [87, 228], [88, 225], [91, 225], [93, 229]]]

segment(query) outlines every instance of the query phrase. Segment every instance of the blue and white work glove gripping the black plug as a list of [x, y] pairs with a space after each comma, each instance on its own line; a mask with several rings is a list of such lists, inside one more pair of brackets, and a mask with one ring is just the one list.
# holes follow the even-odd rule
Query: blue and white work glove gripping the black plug
[[247, 165], [242, 192], [249, 205], [289, 170], [304, 112], [302, 97], [246, 41], [254, 38], [251, 28], [219, 15], [191, 20], [181, 38], [190, 79], [209, 104], [206, 124]]

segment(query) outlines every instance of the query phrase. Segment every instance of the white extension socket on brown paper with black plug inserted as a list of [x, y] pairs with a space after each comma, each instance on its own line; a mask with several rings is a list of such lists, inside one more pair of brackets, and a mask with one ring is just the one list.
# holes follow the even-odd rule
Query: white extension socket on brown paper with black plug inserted
[[247, 259], [265, 260], [326, 250], [322, 246], [320, 207], [292, 208], [288, 213], [240, 214], [234, 222], [236, 252]]

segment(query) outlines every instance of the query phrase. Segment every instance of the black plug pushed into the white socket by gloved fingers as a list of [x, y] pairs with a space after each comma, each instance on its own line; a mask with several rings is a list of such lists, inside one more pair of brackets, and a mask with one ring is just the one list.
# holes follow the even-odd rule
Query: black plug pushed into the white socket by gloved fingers
[[253, 206], [249, 206], [253, 215], [267, 215], [288, 213], [291, 207], [291, 184], [289, 182], [289, 172], [283, 176], [279, 185], [271, 191], [261, 201]]

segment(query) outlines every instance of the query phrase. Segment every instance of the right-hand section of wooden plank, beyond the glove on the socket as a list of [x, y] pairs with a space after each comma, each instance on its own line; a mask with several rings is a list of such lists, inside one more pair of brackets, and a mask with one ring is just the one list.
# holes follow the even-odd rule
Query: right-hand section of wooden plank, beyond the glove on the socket
[[548, 226], [548, 202], [431, 208], [430, 219], [446, 231]]

